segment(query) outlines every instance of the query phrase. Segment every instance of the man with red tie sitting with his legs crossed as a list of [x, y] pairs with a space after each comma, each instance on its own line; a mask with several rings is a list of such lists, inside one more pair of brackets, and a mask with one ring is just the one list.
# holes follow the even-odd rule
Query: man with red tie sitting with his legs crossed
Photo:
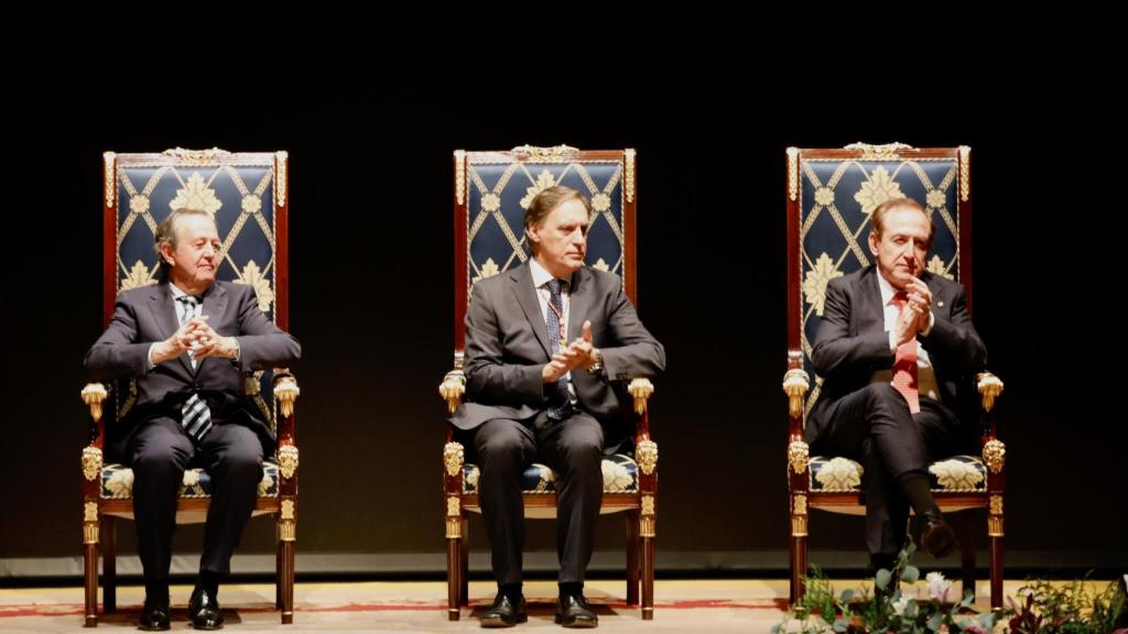
[[905, 545], [909, 508], [934, 556], [955, 544], [929, 488], [928, 464], [976, 438], [969, 406], [986, 351], [963, 288], [924, 270], [934, 227], [909, 199], [873, 212], [875, 265], [831, 280], [811, 360], [822, 391], [808, 416], [812, 451], [864, 466], [866, 545], [891, 569]]

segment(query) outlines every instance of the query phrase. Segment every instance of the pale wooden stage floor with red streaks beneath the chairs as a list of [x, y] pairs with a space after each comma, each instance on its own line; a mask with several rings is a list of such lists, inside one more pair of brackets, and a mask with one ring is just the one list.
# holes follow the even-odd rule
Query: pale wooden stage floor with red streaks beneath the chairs
[[[840, 591], [861, 588], [861, 580], [836, 583]], [[959, 588], [959, 582], [957, 582]], [[1021, 581], [1008, 581], [1013, 596]], [[298, 583], [294, 589], [294, 623], [281, 625], [274, 611], [274, 585], [230, 584], [220, 591], [220, 602], [229, 632], [478, 632], [478, 617], [493, 599], [492, 582], [470, 583], [470, 606], [461, 620], [448, 622], [447, 587], [443, 582], [351, 582]], [[923, 582], [916, 590], [925, 595]], [[185, 606], [192, 588], [174, 585], [173, 631], [191, 631]], [[988, 608], [988, 587], [980, 581], [976, 607]], [[529, 622], [517, 631], [562, 631], [553, 623], [556, 584], [532, 581], [526, 584], [530, 600]], [[784, 580], [660, 580], [655, 582], [654, 619], [642, 620], [637, 608], [624, 602], [624, 582], [596, 580], [587, 595], [599, 614], [601, 632], [712, 633], [768, 632], [783, 618], [787, 597]], [[99, 628], [134, 631], [144, 590], [138, 585], [117, 590], [120, 609], [103, 615]], [[81, 632], [81, 588], [0, 589], [0, 631]]]

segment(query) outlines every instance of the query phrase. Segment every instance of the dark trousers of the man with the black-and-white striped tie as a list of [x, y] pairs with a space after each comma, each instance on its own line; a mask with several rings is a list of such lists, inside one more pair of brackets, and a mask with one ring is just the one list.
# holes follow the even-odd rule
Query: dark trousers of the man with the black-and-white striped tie
[[212, 478], [200, 571], [227, 575], [263, 478], [263, 447], [255, 432], [243, 425], [215, 424], [197, 446], [179, 421], [152, 419], [134, 432], [127, 455], [146, 584], [168, 583], [176, 494], [190, 466], [203, 467]]

